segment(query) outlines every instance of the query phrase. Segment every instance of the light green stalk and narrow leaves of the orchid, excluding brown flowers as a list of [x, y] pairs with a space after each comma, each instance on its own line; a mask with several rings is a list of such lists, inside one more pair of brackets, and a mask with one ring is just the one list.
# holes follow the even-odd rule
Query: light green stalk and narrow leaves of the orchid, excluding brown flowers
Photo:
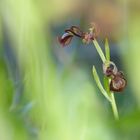
[[[103, 62], [103, 64], [108, 64], [108, 63], [106, 63], [106, 62], [110, 61], [110, 49], [109, 49], [108, 40], [107, 39], [105, 40], [105, 55], [106, 55], [106, 57], [105, 57], [105, 55], [104, 55], [104, 53], [103, 53], [103, 51], [102, 51], [102, 49], [101, 49], [101, 47], [98, 44], [96, 39], [93, 40], [93, 44], [94, 44], [94, 46], [95, 46], [95, 48], [96, 48], [96, 50], [97, 50], [102, 62]], [[96, 70], [95, 67], [93, 67], [93, 68], [94, 68], [93, 70], [95, 71]], [[98, 75], [95, 72], [93, 72], [94, 78], [99, 79]], [[110, 101], [115, 120], [119, 120], [119, 114], [118, 114], [118, 109], [117, 109], [114, 93], [110, 92], [110, 90], [108, 90], [109, 89], [109, 80], [110, 79], [108, 77], [104, 78], [105, 79], [105, 82], [104, 82], [105, 83], [105, 85], [104, 85], [105, 89], [103, 88], [101, 83], [98, 82], [99, 80], [96, 80], [96, 79], [95, 79], [95, 82], [96, 82], [98, 88], [100, 89], [102, 94], [108, 99], [108, 101]], [[101, 86], [99, 86], [99, 85], [101, 85]], [[102, 87], [102, 88], [100, 88], [100, 87]], [[104, 93], [107, 93], [108, 96], [106, 96], [106, 94], [104, 94]]]

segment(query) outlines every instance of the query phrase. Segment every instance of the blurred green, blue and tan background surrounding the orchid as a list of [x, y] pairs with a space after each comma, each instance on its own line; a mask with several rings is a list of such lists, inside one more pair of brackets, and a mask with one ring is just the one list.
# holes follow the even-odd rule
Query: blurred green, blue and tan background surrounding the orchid
[[[92, 21], [128, 82], [118, 122], [92, 76], [93, 65], [103, 76], [93, 44], [57, 41]], [[138, 0], [0, 0], [0, 140], [139, 140], [139, 25]]]

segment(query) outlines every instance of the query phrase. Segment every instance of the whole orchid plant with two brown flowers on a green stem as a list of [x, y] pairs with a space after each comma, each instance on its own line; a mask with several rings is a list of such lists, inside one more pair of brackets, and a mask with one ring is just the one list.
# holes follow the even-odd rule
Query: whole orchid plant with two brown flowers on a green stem
[[71, 26], [71, 28], [65, 30], [65, 33], [61, 37], [58, 37], [58, 41], [62, 47], [68, 46], [73, 37], [81, 38], [83, 43], [86, 44], [93, 42], [103, 63], [104, 85], [100, 81], [95, 66], [93, 66], [92, 69], [93, 77], [100, 92], [110, 102], [115, 119], [119, 120], [114, 93], [122, 92], [126, 87], [127, 81], [123, 72], [119, 71], [115, 63], [110, 60], [110, 48], [107, 38], [105, 39], [105, 53], [102, 51], [96, 40], [99, 32], [99, 27], [95, 23], [91, 24], [91, 28], [89, 28], [88, 32], [81, 31], [77, 26]]

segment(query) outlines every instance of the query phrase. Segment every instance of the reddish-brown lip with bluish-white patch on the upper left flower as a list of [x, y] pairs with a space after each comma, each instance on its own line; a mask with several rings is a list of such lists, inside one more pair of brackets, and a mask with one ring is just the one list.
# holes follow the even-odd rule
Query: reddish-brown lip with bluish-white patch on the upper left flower
[[64, 33], [61, 37], [58, 37], [58, 41], [62, 47], [65, 47], [70, 44], [72, 38], [73, 35], [71, 33]]

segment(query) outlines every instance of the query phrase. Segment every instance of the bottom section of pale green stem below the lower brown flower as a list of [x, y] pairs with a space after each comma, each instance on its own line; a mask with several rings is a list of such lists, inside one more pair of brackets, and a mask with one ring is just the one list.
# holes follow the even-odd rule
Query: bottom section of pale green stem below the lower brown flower
[[112, 111], [113, 111], [113, 114], [114, 114], [114, 118], [115, 120], [119, 120], [119, 114], [118, 114], [118, 109], [117, 109], [117, 105], [116, 105], [116, 101], [115, 101], [115, 97], [114, 97], [114, 93], [111, 92], [111, 106], [112, 106]]

